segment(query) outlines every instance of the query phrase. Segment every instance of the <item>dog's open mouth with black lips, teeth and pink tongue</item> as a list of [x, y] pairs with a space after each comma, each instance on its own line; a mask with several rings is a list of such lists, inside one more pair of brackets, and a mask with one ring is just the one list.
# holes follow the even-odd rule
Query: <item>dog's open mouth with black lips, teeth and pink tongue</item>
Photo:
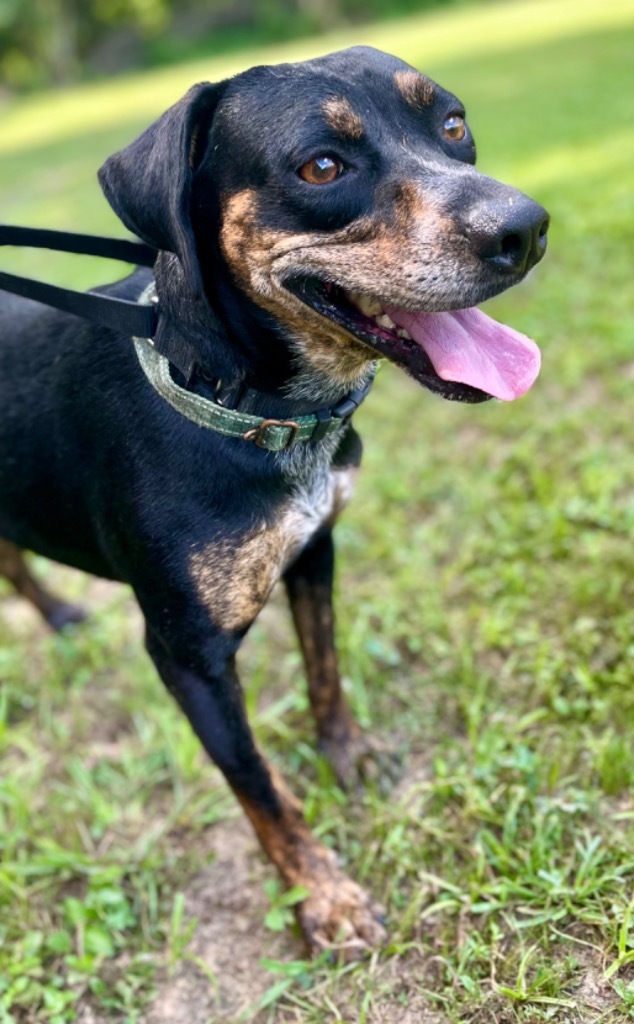
[[412, 311], [315, 278], [293, 279], [287, 288], [445, 398], [512, 401], [539, 374], [535, 342], [475, 306]]

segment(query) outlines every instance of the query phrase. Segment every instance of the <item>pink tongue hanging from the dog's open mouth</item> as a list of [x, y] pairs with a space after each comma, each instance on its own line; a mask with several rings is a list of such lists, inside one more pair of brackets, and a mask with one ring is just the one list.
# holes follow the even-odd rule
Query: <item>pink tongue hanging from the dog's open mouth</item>
[[475, 307], [448, 313], [385, 311], [424, 348], [442, 380], [512, 401], [529, 390], [540, 372], [535, 342]]

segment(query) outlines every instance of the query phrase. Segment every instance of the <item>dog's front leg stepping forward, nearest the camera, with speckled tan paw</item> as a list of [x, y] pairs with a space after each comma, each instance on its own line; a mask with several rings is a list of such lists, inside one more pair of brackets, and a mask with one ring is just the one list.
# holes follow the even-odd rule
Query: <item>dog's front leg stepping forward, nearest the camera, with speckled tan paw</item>
[[[238, 647], [239, 641], [234, 644]], [[226, 639], [207, 643], [205, 665], [172, 652], [152, 631], [147, 649], [247, 813], [267, 856], [289, 886], [308, 893], [297, 919], [311, 953], [328, 947], [356, 958], [383, 941], [381, 909], [337, 865], [304, 821], [301, 805], [257, 750], [247, 721], [234, 651]]]

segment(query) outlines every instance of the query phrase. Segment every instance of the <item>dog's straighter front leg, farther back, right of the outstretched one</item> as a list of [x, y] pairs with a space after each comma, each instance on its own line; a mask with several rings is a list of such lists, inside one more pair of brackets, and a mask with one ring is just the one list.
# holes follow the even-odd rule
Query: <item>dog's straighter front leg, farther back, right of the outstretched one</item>
[[299, 637], [318, 742], [344, 788], [377, 775], [391, 780], [394, 760], [363, 731], [341, 689], [334, 636], [332, 531], [318, 537], [284, 575]]

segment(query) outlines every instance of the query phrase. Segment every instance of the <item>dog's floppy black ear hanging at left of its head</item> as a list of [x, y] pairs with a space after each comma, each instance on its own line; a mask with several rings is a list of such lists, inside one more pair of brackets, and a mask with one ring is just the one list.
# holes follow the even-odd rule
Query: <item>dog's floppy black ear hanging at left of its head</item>
[[199, 295], [203, 283], [192, 225], [192, 181], [223, 91], [223, 83], [193, 86], [98, 172], [117, 216], [143, 242], [176, 253], [188, 287]]

